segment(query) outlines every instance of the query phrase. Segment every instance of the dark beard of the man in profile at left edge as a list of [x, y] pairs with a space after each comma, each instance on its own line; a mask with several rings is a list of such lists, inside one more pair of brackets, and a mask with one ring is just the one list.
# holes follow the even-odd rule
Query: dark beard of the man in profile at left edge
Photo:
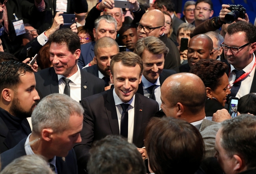
[[13, 103], [10, 107], [10, 113], [13, 116], [16, 116], [17, 118], [28, 118], [31, 117], [31, 114], [35, 108], [35, 105], [37, 105], [38, 101], [35, 101], [35, 103], [31, 106], [30, 110], [26, 111], [20, 106], [20, 101], [19, 99], [15, 98], [13, 99]]

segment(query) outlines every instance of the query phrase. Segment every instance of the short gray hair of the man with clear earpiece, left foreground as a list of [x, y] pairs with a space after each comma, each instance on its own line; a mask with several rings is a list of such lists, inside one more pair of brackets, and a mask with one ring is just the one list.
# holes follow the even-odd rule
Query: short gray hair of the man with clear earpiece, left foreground
[[40, 135], [43, 129], [50, 128], [55, 133], [61, 133], [68, 128], [70, 116], [81, 116], [83, 112], [80, 103], [65, 94], [48, 95], [39, 102], [31, 115], [33, 132]]

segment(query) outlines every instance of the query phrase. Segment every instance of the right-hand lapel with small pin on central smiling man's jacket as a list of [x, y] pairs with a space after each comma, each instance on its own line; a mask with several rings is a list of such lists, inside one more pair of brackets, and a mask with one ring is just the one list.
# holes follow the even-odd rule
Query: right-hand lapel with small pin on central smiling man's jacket
[[141, 99], [139, 95], [135, 94], [135, 104], [134, 104], [134, 128], [133, 128], [133, 139], [132, 143], [136, 144], [141, 133], [141, 126], [143, 120], [143, 105], [141, 105]]

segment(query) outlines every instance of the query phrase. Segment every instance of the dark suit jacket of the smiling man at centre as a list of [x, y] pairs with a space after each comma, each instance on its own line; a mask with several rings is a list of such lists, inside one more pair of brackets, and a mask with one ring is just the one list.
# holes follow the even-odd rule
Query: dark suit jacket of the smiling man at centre
[[[93, 142], [106, 137], [106, 135], [119, 135], [113, 88], [82, 99], [81, 104], [85, 109], [81, 131], [82, 142], [74, 147], [79, 172], [86, 168], [89, 159], [89, 150]], [[132, 143], [141, 148], [144, 145], [144, 129], [150, 118], [159, 110], [159, 107], [156, 101], [136, 93], [134, 109]]]

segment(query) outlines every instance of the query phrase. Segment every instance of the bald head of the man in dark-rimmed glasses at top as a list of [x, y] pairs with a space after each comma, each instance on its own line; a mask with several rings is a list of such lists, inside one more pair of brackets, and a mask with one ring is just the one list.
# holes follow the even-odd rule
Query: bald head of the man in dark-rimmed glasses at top
[[147, 26], [150, 28], [159, 27], [150, 32], [144, 31], [143, 29], [138, 30], [138, 36], [140, 38], [148, 36], [160, 37], [164, 32], [165, 15], [160, 10], [153, 9], [144, 13], [139, 23], [142, 26]]

